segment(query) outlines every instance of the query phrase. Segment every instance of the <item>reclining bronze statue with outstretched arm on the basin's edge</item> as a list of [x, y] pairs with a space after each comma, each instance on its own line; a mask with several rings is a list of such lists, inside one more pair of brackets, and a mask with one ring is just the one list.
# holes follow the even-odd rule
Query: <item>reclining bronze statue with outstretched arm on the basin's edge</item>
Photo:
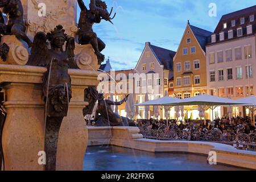
[[126, 95], [122, 101], [114, 102], [105, 100], [103, 94], [98, 94], [98, 107], [94, 118], [94, 121], [96, 121], [94, 126], [129, 126], [129, 119], [120, 117], [111, 109], [111, 105], [122, 105], [123, 102], [127, 101], [128, 97], [129, 95]]

